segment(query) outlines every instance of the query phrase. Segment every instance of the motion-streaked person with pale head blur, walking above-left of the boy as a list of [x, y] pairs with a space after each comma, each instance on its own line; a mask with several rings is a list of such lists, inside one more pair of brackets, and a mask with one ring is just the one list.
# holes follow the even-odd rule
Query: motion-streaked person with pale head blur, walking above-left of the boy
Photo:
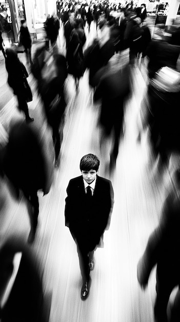
[[44, 103], [47, 122], [52, 128], [54, 165], [57, 168], [60, 162], [66, 108], [64, 94], [64, 83], [68, 76], [66, 58], [61, 54], [51, 56], [47, 46], [42, 46], [35, 51], [32, 73], [37, 79], [38, 93]]

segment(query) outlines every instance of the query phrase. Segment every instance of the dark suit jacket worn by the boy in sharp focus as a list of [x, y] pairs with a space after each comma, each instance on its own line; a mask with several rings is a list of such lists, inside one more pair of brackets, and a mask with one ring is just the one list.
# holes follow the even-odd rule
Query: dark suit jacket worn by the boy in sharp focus
[[91, 204], [87, 202], [83, 176], [70, 180], [67, 187], [65, 224], [75, 238], [89, 236], [96, 244], [109, 228], [113, 207], [113, 188], [109, 180], [97, 176]]

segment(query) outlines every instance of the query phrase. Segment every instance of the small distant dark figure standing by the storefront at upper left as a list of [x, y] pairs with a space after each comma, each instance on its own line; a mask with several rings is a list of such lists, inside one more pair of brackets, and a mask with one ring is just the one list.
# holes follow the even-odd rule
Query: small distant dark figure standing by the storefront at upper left
[[21, 28], [19, 31], [19, 41], [25, 48], [27, 62], [30, 62], [30, 64], [31, 64], [32, 63], [32, 60], [31, 60], [32, 40], [31, 40], [31, 36], [30, 36], [29, 30], [27, 27], [27, 22], [24, 19], [21, 20]]

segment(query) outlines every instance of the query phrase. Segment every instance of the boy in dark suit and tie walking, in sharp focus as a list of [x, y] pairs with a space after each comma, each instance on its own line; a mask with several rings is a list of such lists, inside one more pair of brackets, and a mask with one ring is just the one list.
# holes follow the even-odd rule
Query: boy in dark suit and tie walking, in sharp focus
[[93, 154], [82, 157], [81, 176], [70, 180], [67, 187], [65, 224], [77, 244], [83, 278], [81, 298], [89, 294], [90, 271], [94, 268], [93, 253], [110, 225], [113, 188], [109, 180], [97, 175], [99, 159]]

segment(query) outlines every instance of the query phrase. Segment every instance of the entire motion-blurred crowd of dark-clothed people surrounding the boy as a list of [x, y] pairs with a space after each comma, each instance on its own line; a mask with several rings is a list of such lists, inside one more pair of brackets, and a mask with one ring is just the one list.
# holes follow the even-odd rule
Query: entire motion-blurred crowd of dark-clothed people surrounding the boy
[[[94, 39], [88, 42], [91, 24], [96, 26]], [[31, 36], [26, 21], [21, 22], [20, 42], [25, 48], [27, 64], [36, 79], [38, 95], [41, 98], [48, 126], [52, 130], [54, 151], [47, 153], [46, 142], [40, 130], [30, 117], [28, 102], [33, 100], [28, 71], [19, 60], [14, 48], [5, 50], [1, 32], [0, 46], [5, 58], [7, 82], [17, 98], [17, 108], [25, 115], [25, 120], [13, 119], [9, 125], [9, 138], [1, 145], [0, 166], [2, 177], [7, 177], [16, 198], [22, 191], [27, 200], [30, 234], [29, 244], [35, 239], [38, 224], [38, 191], [47, 194], [53, 182], [53, 165], [61, 164], [61, 145], [67, 106], [65, 83], [68, 75], [74, 78], [74, 88], [79, 93], [79, 79], [86, 70], [89, 72], [89, 86], [93, 102], [99, 102], [98, 125], [101, 128], [100, 149], [104, 149], [107, 140], [112, 141], [109, 160], [109, 173], [115, 170], [119, 141], [123, 139], [124, 114], [126, 101], [131, 99], [134, 66], [143, 64], [147, 72], [147, 88], [144, 93], [137, 117], [137, 144], [148, 130], [147, 144], [150, 146], [150, 158], [158, 163], [158, 169], [169, 171], [169, 160], [173, 153], [180, 153], [179, 99], [180, 73], [177, 62], [180, 53], [180, 27], [171, 25], [150, 25], [147, 19], [146, 5], [134, 6], [133, 2], [123, 7], [121, 4], [96, 2], [92, 4], [59, 3], [57, 15], [48, 15], [44, 23], [46, 41], [31, 56]], [[59, 53], [57, 38], [63, 28], [66, 40], [66, 54]], [[121, 64], [121, 54], [128, 56], [128, 63]], [[177, 157], [178, 160], [178, 157]], [[154, 316], [156, 322], [168, 321], [167, 305], [170, 294], [180, 282], [180, 262], [178, 235], [180, 211], [180, 163], [177, 162], [171, 172], [172, 189], [162, 210], [159, 226], [149, 238], [145, 253], [137, 265], [137, 278], [143, 288], [148, 284], [152, 268], [157, 264], [156, 301]], [[16, 247], [17, 244], [17, 247]], [[11, 246], [13, 245], [13, 246]], [[30, 270], [31, 257], [28, 245], [23, 242], [7, 241], [0, 253], [0, 296], [3, 298], [6, 280], [13, 271], [13, 259], [16, 253], [25, 258], [25, 266]], [[33, 265], [32, 265], [33, 266]], [[25, 267], [26, 270], [26, 267]], [[42, 281], [35, 271], [39, 297], [32, 303], [35, 317], [30, 319], [10, 316], [11, 303], [1, 302], [2, 321], [45, 321], [41, 316]], [[28, 289], [30, 287], [28, 286]], [[33, 285], [31, 285], [33, 288]], [[13, 293], [14, 292], [14, 293]], [[17, 289], [11, 293], [16, 294]], [[24, 293], [26, 291], [23, 291]], [[14, 295], [15, 296], [15, 295]], [[30, 297], [30, 295], [29, 295]], [[10, 298], [9, 298], [10, 299]], [[3, 302], [4, 303], [4, 302]], [[17, 307], [17, 306], [16, 306]], [[15, 309], [14, 309], [15, 310]], [[40, 311], [41, 313], [39, 313]], [[179, 321], [179, 294], [174, 301], [169, 321]], [[27, 314], [24, 311], [21, 312]], [[17, 312], [17, 315], [19, 313]], [[38, 315], [39, 314], [39, 315]], [[37, 316], [39, 316], [37, 318]], [[178, 317], [178, 318], [177, 318]]]

